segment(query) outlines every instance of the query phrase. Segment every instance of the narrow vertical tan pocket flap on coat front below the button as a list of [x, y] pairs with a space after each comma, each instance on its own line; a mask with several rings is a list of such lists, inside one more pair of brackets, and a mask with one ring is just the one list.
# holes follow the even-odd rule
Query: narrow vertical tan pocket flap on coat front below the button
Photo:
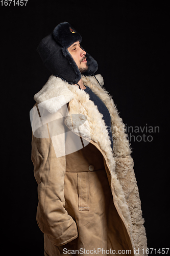
[[89, 210], [88, 172], [78, 173], [79, 210]]

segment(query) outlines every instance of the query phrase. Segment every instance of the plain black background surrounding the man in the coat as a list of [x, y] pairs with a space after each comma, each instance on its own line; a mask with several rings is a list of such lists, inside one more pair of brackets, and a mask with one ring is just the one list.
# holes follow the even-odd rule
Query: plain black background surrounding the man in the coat
[[[29, 112], [34, 94], [51, 75], [36, 48], [64, 21], [80, 32], [83, 48], [98, 61], [96, 74], [104, 77], [126, 126], [159, 127], [132, 133], [131, 146], [148, 248], [168, 248], [167, 5], [139, 0], [0, 4], [3, 255], [43, 255]], [[137, 137], [143, 134], [152, 141]]]

